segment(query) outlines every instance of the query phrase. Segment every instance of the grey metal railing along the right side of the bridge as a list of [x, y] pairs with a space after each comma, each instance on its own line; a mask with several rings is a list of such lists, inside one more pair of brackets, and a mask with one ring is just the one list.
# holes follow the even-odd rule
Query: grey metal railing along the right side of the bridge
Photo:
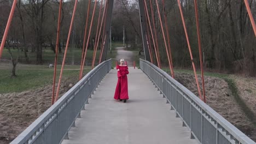
[[210, 144], [255, 143], [165, 71], [143, 59], [139, 65], [182, 119], [183, 126], [190, 129], [191, 139]]

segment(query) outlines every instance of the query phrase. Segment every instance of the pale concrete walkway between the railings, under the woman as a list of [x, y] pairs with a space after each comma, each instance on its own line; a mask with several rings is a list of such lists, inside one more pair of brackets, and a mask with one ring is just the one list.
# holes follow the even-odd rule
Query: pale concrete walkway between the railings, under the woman
[[170, 110], [166, 99], [140, 70], [129, 67], [127, 103], [114, 100], [117, 72], [111, 70], [96, 89], [63, 144], [197, 143]]

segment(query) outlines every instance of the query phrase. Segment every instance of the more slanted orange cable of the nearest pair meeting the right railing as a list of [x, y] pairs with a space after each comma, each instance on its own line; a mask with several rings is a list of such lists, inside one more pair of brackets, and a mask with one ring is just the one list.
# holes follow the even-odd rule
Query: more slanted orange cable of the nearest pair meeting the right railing
[[186, 25], [185, 25], [185, 20], [184, 20], [183, 13], [182, 13], [181, 3], [179, 2], [179, 0], [177, 0], [177, 2], [178, 2], [178, 5], [179, 5], [179, 11], [181, 12], [181, 18], [182, 18], [182, 23], [183, 23], [183, 27], [184, 27], [184, 32], [185, 32], [185, 35], [186, 35], [186, 39], [187, 39], [187, 43], [188, 43], [188, 48], [189, 48], [189, 53], [190, 53], [190, 58], [191, 58], [191, 62], [192, 62], [193, 69], [194, 69], [194, 74], [195, 74], [195, 79], [196, 79], [197, 90], [198, 90], [198, 93], [199, 93], [199, 97], [200, 97], [200, 99], [202, 100], [201, 90], [200, 90], [199, 82], [198, 82], [197, 75], [196, 75], [196, 69], [195, 69], [194, 59], [193, 59], [193, 55], [192, 55], [191, 48], [190, 48], [190, 43], [189, 43], [187, 28], [186, 28]]

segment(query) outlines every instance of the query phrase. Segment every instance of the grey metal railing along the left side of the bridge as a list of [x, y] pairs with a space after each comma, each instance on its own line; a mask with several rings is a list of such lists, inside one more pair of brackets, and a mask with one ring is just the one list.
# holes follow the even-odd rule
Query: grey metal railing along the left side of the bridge
[[104, 61], [86, 74], [48, 110], [25, 129], [11, 144], [61, 143], [68, 139], [68, 130], [95, 91], [98, 83], [111, 69], [111, 59]]

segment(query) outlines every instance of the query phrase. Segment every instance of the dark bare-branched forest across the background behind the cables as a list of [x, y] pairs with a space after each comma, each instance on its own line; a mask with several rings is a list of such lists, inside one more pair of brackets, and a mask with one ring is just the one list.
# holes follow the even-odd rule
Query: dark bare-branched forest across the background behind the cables
[[[99, 14], [101, 1], [97, 2], [95, 17]], [[103, 1], [103, 3], [106, 1]], [[164, 41], [161, 35], [160, 21], [156, 10], [159, 3], [161, 17], [167, 16], [168, 33], [172, 52], [173, 67], [191, 68], [191, 60], [187, 41], [182, 26], [181, 14], [177, 1], [151, 1], [152, 12], [149, 16], [155, 18], [158, 37], [160, 60], [162, 65], [168, 65]], [[256, 15], [256, 1], [249, 0], [252, 14]], [[9, 17], [13, 1], [0, 0], [0, 40]], [[79, 1], [73, 25], [73, 41], [77, 49], [83, 47], [86, 13], [89, 0]], [[150, 3], [146, 0], [146, 3]], [[199, 49], [196, 35], [194, 1], [181, 0], [185, 23], [188, 29], [194, 62], [200, 67]], [[251, 21], [243, 0], [200, 0], [197, 1], [202, 44], [203, 67], [208, 71], [220, 73], [241, 73], [255, 76], [256, 74], [256, 40]], [[59, 52], [65, 49], [67, 34], [73, 13], [74, 0], [63, 1], [61, 10], [61, 30]], [[93, 7], [90, 7], [92, 11]], [[56, 0], [20, 0], [11, 22], [5, 49], [16, 50], [22, 58], [8, 55], [3, 58], [22, 63], [44, 63], [44, 49], [55, 53], [55, 41], [59, 1]], [[91, 20], [91, 13], [89, 20]], [[89, 49], [93, 49], [96, 37], [97, 20], [92, 25]], [[162, 18], [163, 20], [163, 18]], [[90, 21], [91, 22], [91, 21]], [[152, 23], [152, 21], [151, 21]], [[123, 41], [131, 49], [143, 50], [141, 23], [138, 1], [115, 0], [112, 13], [112, 42]], [[72, 39], [70, 39], [72, 40]], [[102, 40], [102, 36], [101, 39]], [[0, 41], [1, 42], [1, 41]], [[8, 48], [9, 47], [9, 48]], [[99, 45], [100, 48], [100, 45]], [[28, 53], [36, 53], [36, 59], [30, 59]], [[10, 51], [11, 54], [11, 51]], [[14, 63], [15, 63], [14, 62]]]

